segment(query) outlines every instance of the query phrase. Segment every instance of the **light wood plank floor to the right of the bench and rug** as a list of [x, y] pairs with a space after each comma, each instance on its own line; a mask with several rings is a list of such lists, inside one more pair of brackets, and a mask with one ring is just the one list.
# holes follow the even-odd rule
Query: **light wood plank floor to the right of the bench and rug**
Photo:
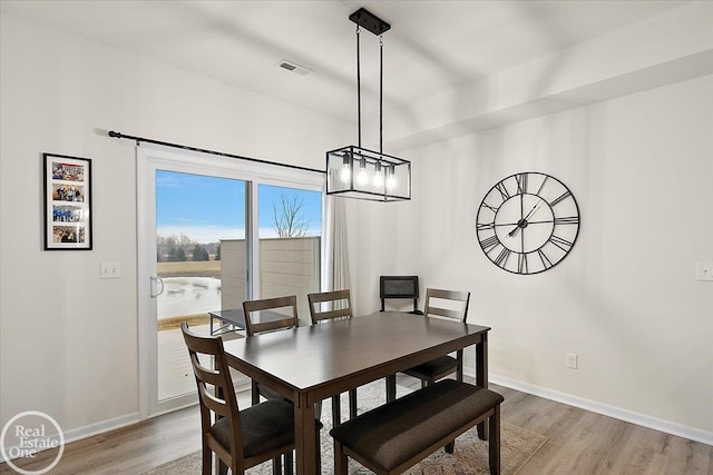
[[549, 441], [518, 475], [713, 475], [713, 447], [515, 389], [502, 420]]

